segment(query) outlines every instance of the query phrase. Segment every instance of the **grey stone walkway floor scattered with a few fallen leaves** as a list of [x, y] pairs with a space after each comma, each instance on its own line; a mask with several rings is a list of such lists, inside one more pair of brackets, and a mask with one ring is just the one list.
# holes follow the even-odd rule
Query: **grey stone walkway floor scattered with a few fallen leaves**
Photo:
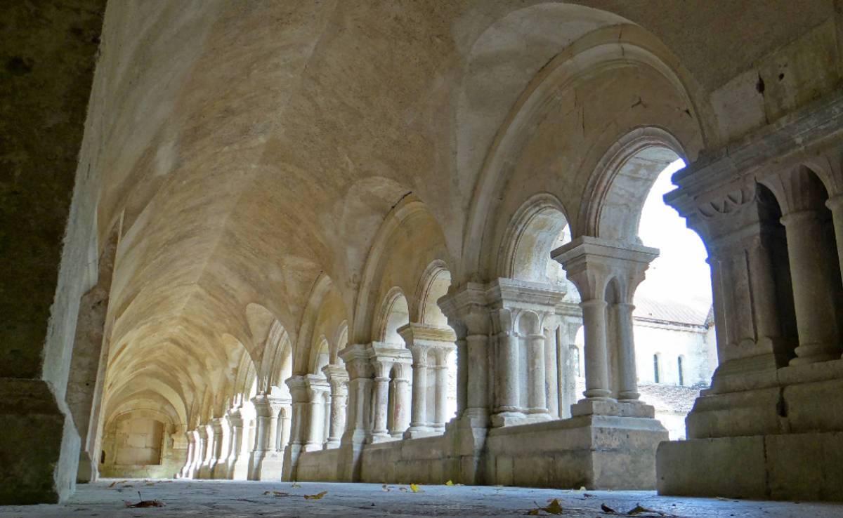
[[[559, 499], [566, 517], [612, 516], [601, 505], [631, 516], [839, 517], [843, 504], [760, 502], [734, 499], [660, 497], [650, 491], [573, 491], [476, 486], [384, 487], [370, 483], [291, 483], [225, 481], [103, 480], [78, 486], [65, 505], [0, 507], [0, 517], [75, 516], [521, 516]], [[158, 499], [164, 507], [127, 508], [124, 502]], [[279, 492], [274, 494], [273, 491]], [[320, 499], [304, 495], [326, 492]], [[267, 494], [268, 492], [268, 494]], [[551, 509], [552, 510], [552, 509]], [[539, 510], [534, 514], [550, 515]]]

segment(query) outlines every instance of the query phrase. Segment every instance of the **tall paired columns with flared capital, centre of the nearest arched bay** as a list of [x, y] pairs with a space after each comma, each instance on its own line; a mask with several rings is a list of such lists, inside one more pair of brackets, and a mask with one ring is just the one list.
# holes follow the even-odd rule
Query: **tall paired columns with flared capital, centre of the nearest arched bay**
[[573, 413], [592, 413], [595, 402], [601, 401], [637, 403], [631, 302], [658, 250], [582, 236], [551, 255], [577, 286], [582, 301], [586, 391]]

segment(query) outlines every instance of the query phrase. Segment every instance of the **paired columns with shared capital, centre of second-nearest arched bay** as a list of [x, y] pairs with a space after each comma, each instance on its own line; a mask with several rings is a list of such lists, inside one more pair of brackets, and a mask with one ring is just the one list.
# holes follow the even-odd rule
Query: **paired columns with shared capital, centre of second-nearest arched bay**
[[456, 335], [451, 328], [423, 323], [408, 323], [398, 333], [412, 355], [411, 419], [404, 437], [441, 434], [448, 410], [448, 355], [457, 348]]

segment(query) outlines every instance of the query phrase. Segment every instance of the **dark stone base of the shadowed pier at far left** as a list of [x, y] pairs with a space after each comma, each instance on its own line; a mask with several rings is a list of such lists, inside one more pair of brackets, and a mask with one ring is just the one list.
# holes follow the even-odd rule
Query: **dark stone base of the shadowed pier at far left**
[[0, 505], [65, 501], [76, 488], [81, 441], [64, 401], [42, 380], [0, 378], [0, 422]]

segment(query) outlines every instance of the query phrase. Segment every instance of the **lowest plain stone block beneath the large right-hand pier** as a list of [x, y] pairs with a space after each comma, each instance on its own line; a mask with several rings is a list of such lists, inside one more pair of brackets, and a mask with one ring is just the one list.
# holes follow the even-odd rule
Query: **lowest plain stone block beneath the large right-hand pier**
[[843, 432], [663, 442], [658, 494], [843, 500]]

